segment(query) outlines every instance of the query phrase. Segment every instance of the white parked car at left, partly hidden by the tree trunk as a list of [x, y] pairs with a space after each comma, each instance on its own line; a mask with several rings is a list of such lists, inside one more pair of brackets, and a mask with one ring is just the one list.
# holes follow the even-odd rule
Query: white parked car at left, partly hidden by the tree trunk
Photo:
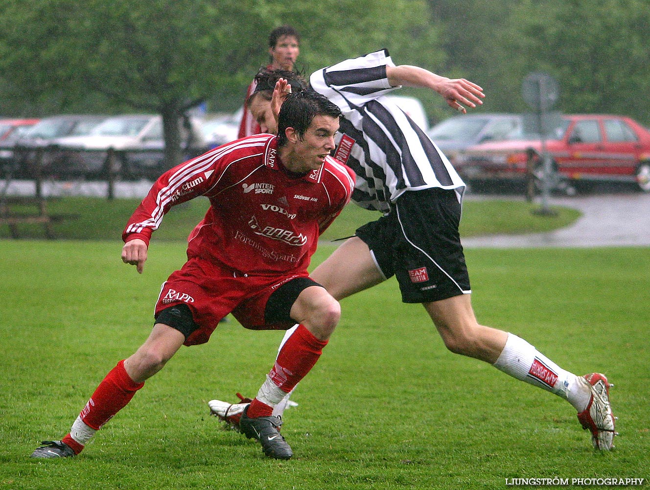
[[[181, 137], [188, 157], [200, 154], [205, 141], [200, 122], [190, 118], [190, 129]], [[191, 141], [188, 141], [190, 134]], [[109, 149], [119, 152], [114, 164], [127, 178], [157, 176], [164, 168], [162, 117], [154, 114], [129, 114], [106, 118], [83, 136], [61, 138], [60, 172], [99, 176], [105, 170]], [[185, 148], [189, 144], [190, 148]]]

